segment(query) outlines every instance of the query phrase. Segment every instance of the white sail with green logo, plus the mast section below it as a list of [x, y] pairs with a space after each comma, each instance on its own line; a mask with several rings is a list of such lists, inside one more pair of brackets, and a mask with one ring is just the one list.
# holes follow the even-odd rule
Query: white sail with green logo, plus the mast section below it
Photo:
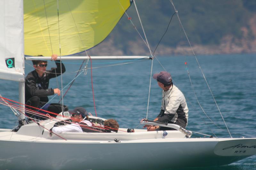
[[0, 37], [0, 79], [19, 82], [19, 101], [24, 104], [23, 1], [0, 1]]

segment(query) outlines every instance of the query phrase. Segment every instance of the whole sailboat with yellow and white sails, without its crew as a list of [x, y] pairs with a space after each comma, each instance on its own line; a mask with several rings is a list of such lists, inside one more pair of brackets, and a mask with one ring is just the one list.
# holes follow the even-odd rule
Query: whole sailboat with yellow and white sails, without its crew
[[[59, 30], [58, 24], [62, 26], [62, 22], [67, 24], [69, 22], [63, 20], [63, 18], [60, 18], [59, 21], [58, 19], [50, 21], [50, 16], [53, 14], [47, 13], [47, 11], [56, 12], [56, 9], [59, 11], [64, 6], [61, 2], [66, 4], [64, 15], [71, 12], [73, 14], [83, 13], [89, 16], [90, 13], [76, 10], [82, 8], [85, 9], [82, 11], [88, 11], [87, 7], [90, 7], [89, 9], [93, 9], [92, 13], [97, 13], [106, 5], [112, 7], [110, 8], [111, 14], [115, 13], [115, 9], [119, 10], [115, 13], [117, 17], [114, 20], [106, 21], [106, 23], [112, 22], [111, 26], [108, 27], [106, 23], [103, 24], [104, 29], [100, 38], [98, 35], [88, 37], [86, 35], [87, 32], [83, 34], [77, 29], [78, 26], [73, 24], [71, 27], [75, 30], [74, 32], [77, 33], [78, 30], [78, 35], [74, 39], [76, 41], [77, 39], [80, 40], [80, 45], [76, 43], [73, 47], [68, 48], [70, 44], [73, 44], [65, 43], [67, 40], [70, 40], [69, 42], [72, 41], [73, 32], [71, 31], [72, 33], [68, 37], [68, 35]], [[0, 78], [18, 81], [20, 96], [19, 102], [1, 97], [1, 104], [10, 107], [14, 113], [19, 115], [19, 119], [22, 121], [25, 118], [24, 54], [34, 56], [40, 51], [40, 54], [50, 56], [55, 51], [59, 51], [59, 37], [62, 37], [59, 36], [59, 33], [66, 35], [66, 40], [61, 39], [61, 41], [64, 41], [64, 44], [61, 43], [62, 55], [79, 53], [84, 49], [90, 49], [99, 44], [111, 32], [125, 10], [131, 5], [129, 0], [107, 1], [107, 4], [105, 2], [33, 1], [34, 4], [31, 4], [31, 1], [24, 1], [23, 7], [23, 1], [0, 1]], [[115, 5], [119, 7], [117, 8]], [[4, 10], [10, 8], [15, 10]], [[23, 9], [25, 30], [23, 30]], [[39, 21], [46, 14], [49, 17], [47, 19], [49, 22], [45, 18], [44, 21]], [[65, 18], [73, 21], [73, 14], [70, 15], [71, 17], [65, 16]], [[100, 15], [103, 18], [100, 18]], [[92, 20], [90, 22], [97, 23], [97, 19], [105, 22], [106, 18], [108, 18], [106, 16], [106, 13], [97, 14], [97, 18], [91, 17]], [[83, 18], [81, 17], [80, 19]], [[33, 35], [38, 29], [35, 28], [36, 24], [33, 20], [36, 20], [36, 23], [41, 26], [41, 36], [38, 34], [37, 36], [36, 34]], [[26, 22], [31, 23], [31, 25], [26, 25]], [[42, 26], [43, 22], [47, 29]], [[54, 25], [54, 23], [57, 23], [57, 25]], [[83, 23], [83, 21], [79, 20], [76, 23]], [[81, 25], [83, 26], [83, 24]], [[94, 24], [92, 25], [94, 26]], [[49, 26], [52, 26], [53, 30], [48, 30]], [[100, 29], [100, 27], [102, 25], [95, 24], [95, 27], [91, 27], [93, 28], [91, 31]], [[50, 34], [53, 37], [55, 36], [55, 39], [48, 40], [51, 37]], [[85, 39], [94, 41], [85, 43], [87, 42]], [[38, 47], [38, 44], [42, 46]], [[54, 46], [53, 44], [57, 45]], [[68, 51], [68, 49], [71, 51]], [[89, 60], [89, 58], [102, 59], [102, 57], [77, 57], [77, 59], [82, 60]], [[131, 57], [105, 57], [104, 59], [120, 58], [127, 59]], [[134, 58], [152, 59], [152, 56]], [[27, 57], [27, 59], [33, 59], [33, 57]], [[49, 57], [44, 57], [43, 59], [49, 59]], [[60, 57], [60, 59], [65, 59], [65, 57]], [[70, 58], [67, 57], [66, 59]], [[26, 110], [26, 112], [29, 112], [29, 110]], [[134, 129], [134, 132], [127, 132], [127, 128], [119, 128], [117, 133], [88, 132], [85, 130], [84, 133], [65, 132], [59, 135], [50, 135], [50, 129], [54, 125], [61, 125], [60, 123], [66, 123], [70, 119], [72, 118], [68, 112], [61, 112], [56, 117], [49, 116], [49, 119], [23, 125], [17, 132], [13, 132], [12, 129], [0, 129], [0, 169], [170, 169], [212, 166], [213, 161], [214, 166], [228, 165], [256, 154], [256, 138], [193, 138], [192, 131], [176, 124], [148, 120], [142, 121], [141, 124], [170, 127], [176, 130], [147, 131], [145, 129]], [[89, 116], [89, 119], [94, 125], [98, 125], [98, 129], [103, 128], [102, 124], [106, 120], [92, 115]], [[88, 129], [88, 127], [84, 126], [84, 129]]]

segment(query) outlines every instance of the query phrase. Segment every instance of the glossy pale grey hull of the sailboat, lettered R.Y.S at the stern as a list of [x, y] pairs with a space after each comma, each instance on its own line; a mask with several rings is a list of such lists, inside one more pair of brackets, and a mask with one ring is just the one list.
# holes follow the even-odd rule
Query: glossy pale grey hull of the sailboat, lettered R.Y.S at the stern
[[[170, 169], [228, 165], [256, 154], [256, 138], [155, 138], [116, 143], [52, 140], [3, 131], [0, 169]], [[82, 134], [86, 138], [87, 133]], [[115, 135], [100, 133], [104, 134]]]

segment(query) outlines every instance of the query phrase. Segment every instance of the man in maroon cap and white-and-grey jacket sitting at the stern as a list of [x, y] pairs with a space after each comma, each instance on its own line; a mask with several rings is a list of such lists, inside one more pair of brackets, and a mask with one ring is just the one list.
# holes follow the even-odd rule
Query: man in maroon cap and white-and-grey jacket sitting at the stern
[[[162, 106], [160, 114], [154, 121], [174, 123], [185, 128], [188, 125], [188, 106], [183, 93], [172, 83], [171, 74], [161, 71], [153, 76], [158, 86], [163, 89]], [[159, 126], [146, 126], [148, 131], [172, 130], [172, 128]]]

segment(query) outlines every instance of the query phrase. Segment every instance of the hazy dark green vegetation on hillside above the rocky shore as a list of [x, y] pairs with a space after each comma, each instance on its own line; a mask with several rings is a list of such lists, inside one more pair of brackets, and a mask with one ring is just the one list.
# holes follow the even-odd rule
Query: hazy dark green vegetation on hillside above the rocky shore
[[[240, 40], [244, 36], [242, 27], [248, 30], [247, 37], [255, 40], [250, 25], [250, 20], [256, 15], [255, 0], [173, 0], [173, 3], [192, 45], [219, 45], [221, 39], [228, 35]], [[169, 0], [136, 0], [136, 4], [148, 41], [154, 50], [175, 11]], [[144, 37], [134, 3], [127, 13]], [[109, 37], [126, 54], [129, 54], [129, 43], [141, 41], [125, 14]], [[188, 45], [177, 15], [172, 18], [160, 45]]]

